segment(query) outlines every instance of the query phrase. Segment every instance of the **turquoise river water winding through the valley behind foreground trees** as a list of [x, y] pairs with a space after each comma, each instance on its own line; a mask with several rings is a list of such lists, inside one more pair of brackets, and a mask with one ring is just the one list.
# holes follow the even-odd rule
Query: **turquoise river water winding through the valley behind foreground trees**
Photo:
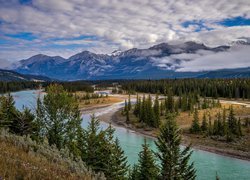
[[[12, 93], [15, 99], [15, 105], [18, 109], [22, 109], [23, 106], [28, 106], [34, 109], [36, 99], [38, 96], [37, 91], [27, 90]], [[95, 112], [96, 116], [104, 113], [115, 111], [122, 104], [115, 104], [109, 108], [98, 109]], [[87, 127], [90, 114], [84, 114], [82, 126]], [[107, 128], [108, 124], [101, 122], [101, 128]], [[133, 131], [127, 130], [122, 127], [115, 127], [115, 136], [119, 139], [120, 144], [128, 157], [129, 164], [137, 162], [138, 153], [141, 151], [141, 144], [144, 139], [150, 144], [153, 150], [156, 150], [154, 140], [152, 138], [144, 137], [136, 134]], [[195, 168], [197, 170], [197, 179], [199, 180], [213, 180], [215, 179], [216, 172], [221, 180], [250, 180], [250, 162], [239, 160], [231, 157], [226, 157], [202, 150], [193, 149], [193, 155], [191, 158], [194, 161]]]

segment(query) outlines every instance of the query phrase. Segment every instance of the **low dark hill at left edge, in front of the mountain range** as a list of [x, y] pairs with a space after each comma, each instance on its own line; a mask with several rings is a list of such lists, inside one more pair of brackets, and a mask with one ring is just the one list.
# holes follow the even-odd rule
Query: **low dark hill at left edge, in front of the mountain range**
[[36, 75], [23, 75], [14, 71], [0, 69], [0, 81], [52, 81], [48, 77]]

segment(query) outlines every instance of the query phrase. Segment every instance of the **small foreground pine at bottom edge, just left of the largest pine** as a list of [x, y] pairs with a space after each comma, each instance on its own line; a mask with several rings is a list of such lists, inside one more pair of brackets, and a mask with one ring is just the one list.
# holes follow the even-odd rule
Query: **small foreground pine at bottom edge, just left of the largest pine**
[[155, 162], [153, 152], [150, 150], [146, 140], [142, 145], [143, 150], [139, 153], [138, 164], [138, 180], [154, 180], [157, 179], [159, 169]]

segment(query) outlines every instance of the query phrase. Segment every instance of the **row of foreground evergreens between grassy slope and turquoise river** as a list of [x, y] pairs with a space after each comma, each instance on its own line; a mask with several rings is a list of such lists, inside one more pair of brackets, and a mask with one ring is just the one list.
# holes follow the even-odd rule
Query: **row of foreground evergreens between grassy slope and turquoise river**
[[[156, 154], [147, 143], [139, 154], [139, 162], [130, 171], [114, 129], [101, 129], [92, 117], [86, 129], [76, 98], [61, 85], [50, 85], [43, 100], [38, 98], [35, 112], [18, 111], [11, 95], [0, 99], [0, 128], [17, 135], [28, 135], [37, 143], [48, 142], [59, 150], [68, 149], [75, 163], [81, 158], [95, 172], [107, 179], [195, 179], [193, 163], [189, 163], [190, 147], [180, 148], [179, 128], [168, 117], [156, 141]], [[158, 165], [156, 160], [160, 162]]]

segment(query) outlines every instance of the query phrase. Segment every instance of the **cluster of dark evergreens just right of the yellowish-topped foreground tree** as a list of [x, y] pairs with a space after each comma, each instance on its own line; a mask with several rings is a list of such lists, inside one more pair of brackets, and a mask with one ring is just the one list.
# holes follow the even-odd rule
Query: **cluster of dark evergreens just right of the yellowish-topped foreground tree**
[[113, 133], [111, 126], [101, 130], [99, 120], [92, 116], [78, 140], [81, 157], [95, 172], [103, 172], [107, 179], [125, 179], [127, 158]]

